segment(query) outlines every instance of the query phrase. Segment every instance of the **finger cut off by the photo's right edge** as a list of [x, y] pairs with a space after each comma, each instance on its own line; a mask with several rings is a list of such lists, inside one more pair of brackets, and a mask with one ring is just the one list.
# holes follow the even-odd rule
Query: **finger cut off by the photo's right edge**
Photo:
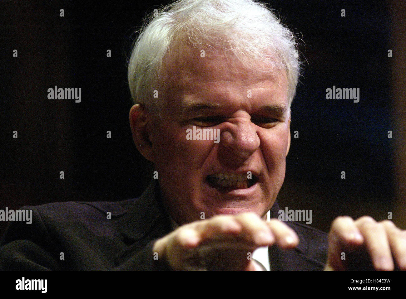
[[389, 245], [395, 258], [397, 267], [406, 271], [406, 231], [397, 228], [392, 221], [384, 220], [382, 225], [386, 229]]

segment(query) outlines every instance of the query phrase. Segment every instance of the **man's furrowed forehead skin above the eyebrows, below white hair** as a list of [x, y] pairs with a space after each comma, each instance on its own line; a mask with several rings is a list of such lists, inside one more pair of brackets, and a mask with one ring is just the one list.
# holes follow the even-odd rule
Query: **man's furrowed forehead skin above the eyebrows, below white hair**
[[[253, 67], [247, 68], [224, 50], [205, 52], [204, 56], [202, 50], [184, 45], [165, 56], [161, 79], [166, 83], [165, 98], [170, 101], [166, 104], [182, 104], [197, 100], [196, 96], [210, 97], [214, 94], [230, 98], [236, 92], [246, 97], [248, 90], [257, 98], [268, 94], [271, 98], [287, 102], [285, 71], [256, 61], [250, 61], [249, 65]], [[259, 71], [259, 68], [268, 71]]]

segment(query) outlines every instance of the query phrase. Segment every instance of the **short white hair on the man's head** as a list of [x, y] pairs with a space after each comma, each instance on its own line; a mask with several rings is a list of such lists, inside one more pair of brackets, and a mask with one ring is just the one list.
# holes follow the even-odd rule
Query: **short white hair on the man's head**
[[134, 103], [161, 110], [153, 90], [164, 86], [159, 80], [162, 61], [185, 41], [204, 47], [206, 56], [231, 51], [248, 69], [257, 70], [261, 62], [260, 71], [285, 69], [292, 103], [300, 73], [295, 36], [265, 4], [253, 0], [179, 0], [155, 10], [140, 30], [128, 65]]

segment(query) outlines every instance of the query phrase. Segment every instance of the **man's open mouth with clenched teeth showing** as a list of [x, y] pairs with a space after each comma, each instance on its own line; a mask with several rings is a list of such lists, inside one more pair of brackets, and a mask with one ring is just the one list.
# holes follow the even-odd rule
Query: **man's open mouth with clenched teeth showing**
[[258, 177], [253, 174], [248, 176], [247, 173], [214, 173], [207, 175], [206, 180], [211, 187], [227, 191], [250, 188], [258, 182]]

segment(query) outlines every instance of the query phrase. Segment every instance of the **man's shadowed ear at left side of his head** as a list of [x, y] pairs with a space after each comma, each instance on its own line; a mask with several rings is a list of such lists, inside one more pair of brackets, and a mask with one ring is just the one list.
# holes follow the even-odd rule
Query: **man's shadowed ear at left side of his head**
[[153, 146], [151, 142], [150, 114], [140, 104], [135, 104], [130, 110], [130, 126], [132, 139], [137, 150], [149, 161], [153, 162]]

